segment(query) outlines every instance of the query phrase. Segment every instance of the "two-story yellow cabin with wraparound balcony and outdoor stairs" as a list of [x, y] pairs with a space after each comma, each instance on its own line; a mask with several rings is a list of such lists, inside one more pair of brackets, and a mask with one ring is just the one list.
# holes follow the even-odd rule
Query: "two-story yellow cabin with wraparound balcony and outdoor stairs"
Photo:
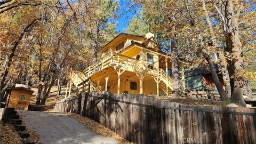
[[[66, 95], [70, 95], [72, 84], [76, 85], [77, 92], [154, 95], [172, 92], [171, 56], [159, 49], [154, 34], [138, 36], [121, 33], [103, 46], [99, 53], [98, 61], [83, 72], [68, 71]], [[180, 65], [185, 90], [183, 62]]]

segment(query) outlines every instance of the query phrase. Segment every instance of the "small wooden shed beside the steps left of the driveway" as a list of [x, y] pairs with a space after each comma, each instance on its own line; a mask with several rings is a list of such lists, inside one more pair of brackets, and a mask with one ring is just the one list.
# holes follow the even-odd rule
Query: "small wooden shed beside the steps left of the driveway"
[[19, 86], [8, 88], [7, 91], [9, 91], [10, 94], [7, 102], [8, 108], [28, 110], [29, 99], [34, 92], [33, 90]]

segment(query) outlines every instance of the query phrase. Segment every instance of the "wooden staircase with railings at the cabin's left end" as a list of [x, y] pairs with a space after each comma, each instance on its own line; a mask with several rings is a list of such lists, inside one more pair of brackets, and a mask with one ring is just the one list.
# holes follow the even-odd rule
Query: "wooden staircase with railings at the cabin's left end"
[[76, 94], [95, 91], [95, 84], [91, 81], [90, 77], [83, 73], [83, 71], [76, 71], [72, 68], [69, 69], [67, 72], [67, 81], [66, 97], [70, 97], [73, 84], [76, 87]]

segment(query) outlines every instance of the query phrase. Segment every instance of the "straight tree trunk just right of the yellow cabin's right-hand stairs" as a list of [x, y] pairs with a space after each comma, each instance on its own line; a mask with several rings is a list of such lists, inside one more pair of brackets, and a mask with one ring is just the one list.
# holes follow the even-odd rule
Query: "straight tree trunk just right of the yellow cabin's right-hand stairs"
[[177, 43], [175, 41], [172, 41], [171, 59], [172, 59], [172, 77], [173, 77], [172, 93], [177, 95], [182, 95]]

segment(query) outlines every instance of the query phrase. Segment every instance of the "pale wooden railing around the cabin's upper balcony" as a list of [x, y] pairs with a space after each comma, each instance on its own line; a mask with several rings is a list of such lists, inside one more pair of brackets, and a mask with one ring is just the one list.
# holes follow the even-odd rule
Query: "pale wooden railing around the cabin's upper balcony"
[[91, 66], [84, 69], [84, 73], [90, 77], [91, 75], [109, 66], [123, 68], [132, 72], [139, 72], [141, 70], [139, 60], [128, 57], [126, 55], [111, 52], [97, 62], [94, 62]]

